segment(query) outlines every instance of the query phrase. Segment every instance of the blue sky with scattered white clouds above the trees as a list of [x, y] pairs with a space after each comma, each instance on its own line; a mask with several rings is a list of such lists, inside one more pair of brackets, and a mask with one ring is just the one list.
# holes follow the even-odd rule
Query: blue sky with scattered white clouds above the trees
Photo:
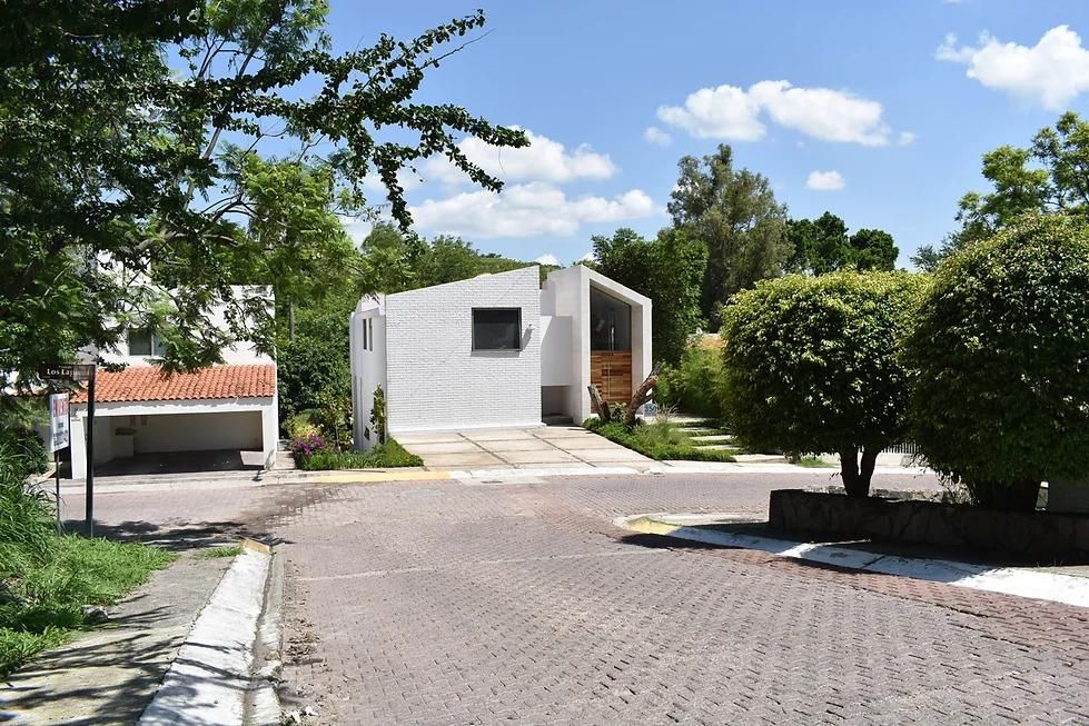
[[654, 233], [677, 159], [726, 142], [792, 216], [885, 229], [908, 266], [954, 227], [960, 196], [984, 188], [983, 152], [1028, 145], [1067, 109], [1089, 115], [1078, 1], [334, 0], [330, 28], [350, 49], [481, 4], [491, 33], [420, 98], [528, 129], [534, 145], [468, 142], [507, 180], [497, 198], [436, 163], [409, 201], [422, 233], [521, 259], [568, 263], [617, 227]]

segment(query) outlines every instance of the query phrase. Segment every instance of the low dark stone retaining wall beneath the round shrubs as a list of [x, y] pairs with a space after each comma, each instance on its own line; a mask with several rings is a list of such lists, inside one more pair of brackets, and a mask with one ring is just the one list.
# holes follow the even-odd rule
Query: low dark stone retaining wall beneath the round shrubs
[[1089, 515], [1014, 513], [937, 501], [771, 493], [769, 525], [784, 531], [1003, 551], [1033, 561], [1089, 563]]

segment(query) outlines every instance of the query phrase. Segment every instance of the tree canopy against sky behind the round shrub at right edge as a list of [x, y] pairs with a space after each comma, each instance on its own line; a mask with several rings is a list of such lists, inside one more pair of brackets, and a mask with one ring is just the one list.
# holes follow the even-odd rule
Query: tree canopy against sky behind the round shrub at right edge
[[924, 246], [911, 258], [922, 269], [1007, 228], [1029, 213], [1089, 218], [1089, 122], [1068, 111], [1045, 127], [1031, 146], [1001, 146], [983, 155], [988, 192], [971, 191], [959, 205], [960, 228], [939, 247]]

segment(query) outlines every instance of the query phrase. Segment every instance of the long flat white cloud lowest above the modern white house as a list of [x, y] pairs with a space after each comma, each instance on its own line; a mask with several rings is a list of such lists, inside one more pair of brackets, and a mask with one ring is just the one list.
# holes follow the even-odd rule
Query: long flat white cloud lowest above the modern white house
[[659, 211], [642, 189], [607, 199], [592, 196], [568, 199], [556, 186], [541, 181], [508, 186], [502, 195], [467, 191], [409, 207], [415, 227], [420, 231], [477, 239], [573, 235], [583, 223], [638, 219]]

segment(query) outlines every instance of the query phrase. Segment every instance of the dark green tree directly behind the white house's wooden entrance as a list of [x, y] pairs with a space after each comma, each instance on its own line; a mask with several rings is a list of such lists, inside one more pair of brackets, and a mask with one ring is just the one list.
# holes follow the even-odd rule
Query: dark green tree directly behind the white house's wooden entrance
[[701, 285], [707, 263], [702, 241], [684, 230], [663, 229], [653, 240], [634, 230], [596, 236], [593, 267], [602, 275], [651, 298], [654, 357], [676, 364], [689, 337], [702, 325]]

